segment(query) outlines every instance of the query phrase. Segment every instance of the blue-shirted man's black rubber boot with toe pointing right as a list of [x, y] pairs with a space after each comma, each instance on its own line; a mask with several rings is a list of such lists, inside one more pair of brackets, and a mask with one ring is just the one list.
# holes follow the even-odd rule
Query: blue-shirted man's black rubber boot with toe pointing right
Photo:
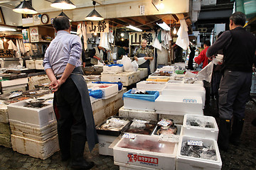
[[71, 167], [73, 169], [91, 169], [95, 164], [94, 162], [87, 162], [83, 158], [86, 139], [85, 137], [80, 138], [71, 142]]

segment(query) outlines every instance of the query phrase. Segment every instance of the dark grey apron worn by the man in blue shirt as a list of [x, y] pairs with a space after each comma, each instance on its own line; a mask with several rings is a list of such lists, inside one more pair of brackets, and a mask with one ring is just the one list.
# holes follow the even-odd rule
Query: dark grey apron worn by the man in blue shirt
[[[74, 81], [75, 86], [77, 86], [78, 91], [81, 95], [81, 102], [82, 102], [82, 110], [85, 115], [85, 122], [86, 122], [86, 137], [90, 152], [95, 147], [95, 145], [99, 142], [97, 139], [97, 132], [95, 129], [95, 120], [92, 114], [92, 106], [90, 103], [90, 96], [87, 91], [87, 84], [85, 79], [82, 77], [82, 68], [76, 67], [73, 72], [70, 74], [71, 79]], [[55, 98], [55, 97], [54, 97]], [[55, 99], [53, 99], [53, 108], [55, 111], [56, 118], [59, 118], [58, 108], [55, 103]]]

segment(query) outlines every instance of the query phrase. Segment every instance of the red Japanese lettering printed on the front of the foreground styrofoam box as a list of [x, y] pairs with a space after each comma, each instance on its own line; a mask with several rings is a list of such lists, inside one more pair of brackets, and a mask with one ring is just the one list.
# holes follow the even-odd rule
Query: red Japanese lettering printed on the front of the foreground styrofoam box
[[131, 154], [128, 153], [127, 155], [129, 162], [141, 162], [141, 163], [147, 163], [149, 165], [152, 166], [157, 166], [159, 159], [158, 158], [154, 158], [154, 157], [144, 157], [144, 156], [140, 156], [138, 154]]

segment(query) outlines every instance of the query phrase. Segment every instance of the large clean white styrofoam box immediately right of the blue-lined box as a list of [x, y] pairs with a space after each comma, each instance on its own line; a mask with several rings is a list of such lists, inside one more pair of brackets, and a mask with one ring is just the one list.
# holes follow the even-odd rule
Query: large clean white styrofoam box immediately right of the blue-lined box
[[[186, 103], [183, 99], [196, 100], [197, 103]], [[160, 95], [154, 102], [156, 113], [169, 115], [196, 114], [203, 115], [203, 103], [201, 97]]]

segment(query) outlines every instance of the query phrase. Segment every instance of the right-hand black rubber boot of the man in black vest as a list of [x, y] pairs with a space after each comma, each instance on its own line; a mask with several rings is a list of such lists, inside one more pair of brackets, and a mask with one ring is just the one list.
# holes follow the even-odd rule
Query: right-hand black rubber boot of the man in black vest
[[230, 143], [232, 143], [235, 146], [238, 146], [240, 144], [240, 135], [242, 134], [242, 126], [243, 126], [244, 122], [245, 122], [244, 119], [238, 119], [235, 116], [233, 118]]

